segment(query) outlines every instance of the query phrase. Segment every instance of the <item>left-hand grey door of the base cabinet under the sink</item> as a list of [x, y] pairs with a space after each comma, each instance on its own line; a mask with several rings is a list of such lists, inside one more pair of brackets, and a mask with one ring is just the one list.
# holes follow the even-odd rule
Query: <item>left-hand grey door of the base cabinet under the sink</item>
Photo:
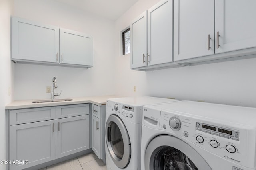
[[[55, 159], [56, 120], [10, 126], [10, 169], [21, 170]], [[28, 164], [26, 164], [28, 161]]]

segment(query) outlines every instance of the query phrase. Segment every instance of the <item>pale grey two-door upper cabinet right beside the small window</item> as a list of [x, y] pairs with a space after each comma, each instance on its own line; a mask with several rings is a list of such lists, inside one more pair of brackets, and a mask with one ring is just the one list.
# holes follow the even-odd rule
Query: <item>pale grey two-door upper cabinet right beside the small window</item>
[[132, 69], [172, 62], [172, 9], [172, 0], [161, 0], [132, 21]]

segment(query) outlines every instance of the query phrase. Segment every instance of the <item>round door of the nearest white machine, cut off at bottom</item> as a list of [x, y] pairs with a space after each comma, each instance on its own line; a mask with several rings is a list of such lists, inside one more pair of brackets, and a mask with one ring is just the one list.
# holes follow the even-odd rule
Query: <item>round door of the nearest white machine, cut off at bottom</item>
[[146, 170], [212, 170], [204, 158], [184, 141], [160, 135], [152, 139], [145, 153]]

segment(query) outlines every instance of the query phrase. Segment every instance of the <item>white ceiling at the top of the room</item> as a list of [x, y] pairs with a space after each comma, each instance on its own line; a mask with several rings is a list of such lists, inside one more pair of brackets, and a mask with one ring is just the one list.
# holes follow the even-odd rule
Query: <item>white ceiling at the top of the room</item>
[[110, 20], [117, 20], [124, 12], [138, 0], [56, 0], [80, 10], [102, 16]]

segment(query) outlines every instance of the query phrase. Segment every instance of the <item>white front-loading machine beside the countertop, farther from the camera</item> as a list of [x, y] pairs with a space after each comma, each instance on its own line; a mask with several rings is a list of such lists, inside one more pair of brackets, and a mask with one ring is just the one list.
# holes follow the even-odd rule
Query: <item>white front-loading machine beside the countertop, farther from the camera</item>
[[140, 170], [140, 135], [145, 104], [178, 100], [127, 97], [107, 100], [106, 164], [108, 170]]

